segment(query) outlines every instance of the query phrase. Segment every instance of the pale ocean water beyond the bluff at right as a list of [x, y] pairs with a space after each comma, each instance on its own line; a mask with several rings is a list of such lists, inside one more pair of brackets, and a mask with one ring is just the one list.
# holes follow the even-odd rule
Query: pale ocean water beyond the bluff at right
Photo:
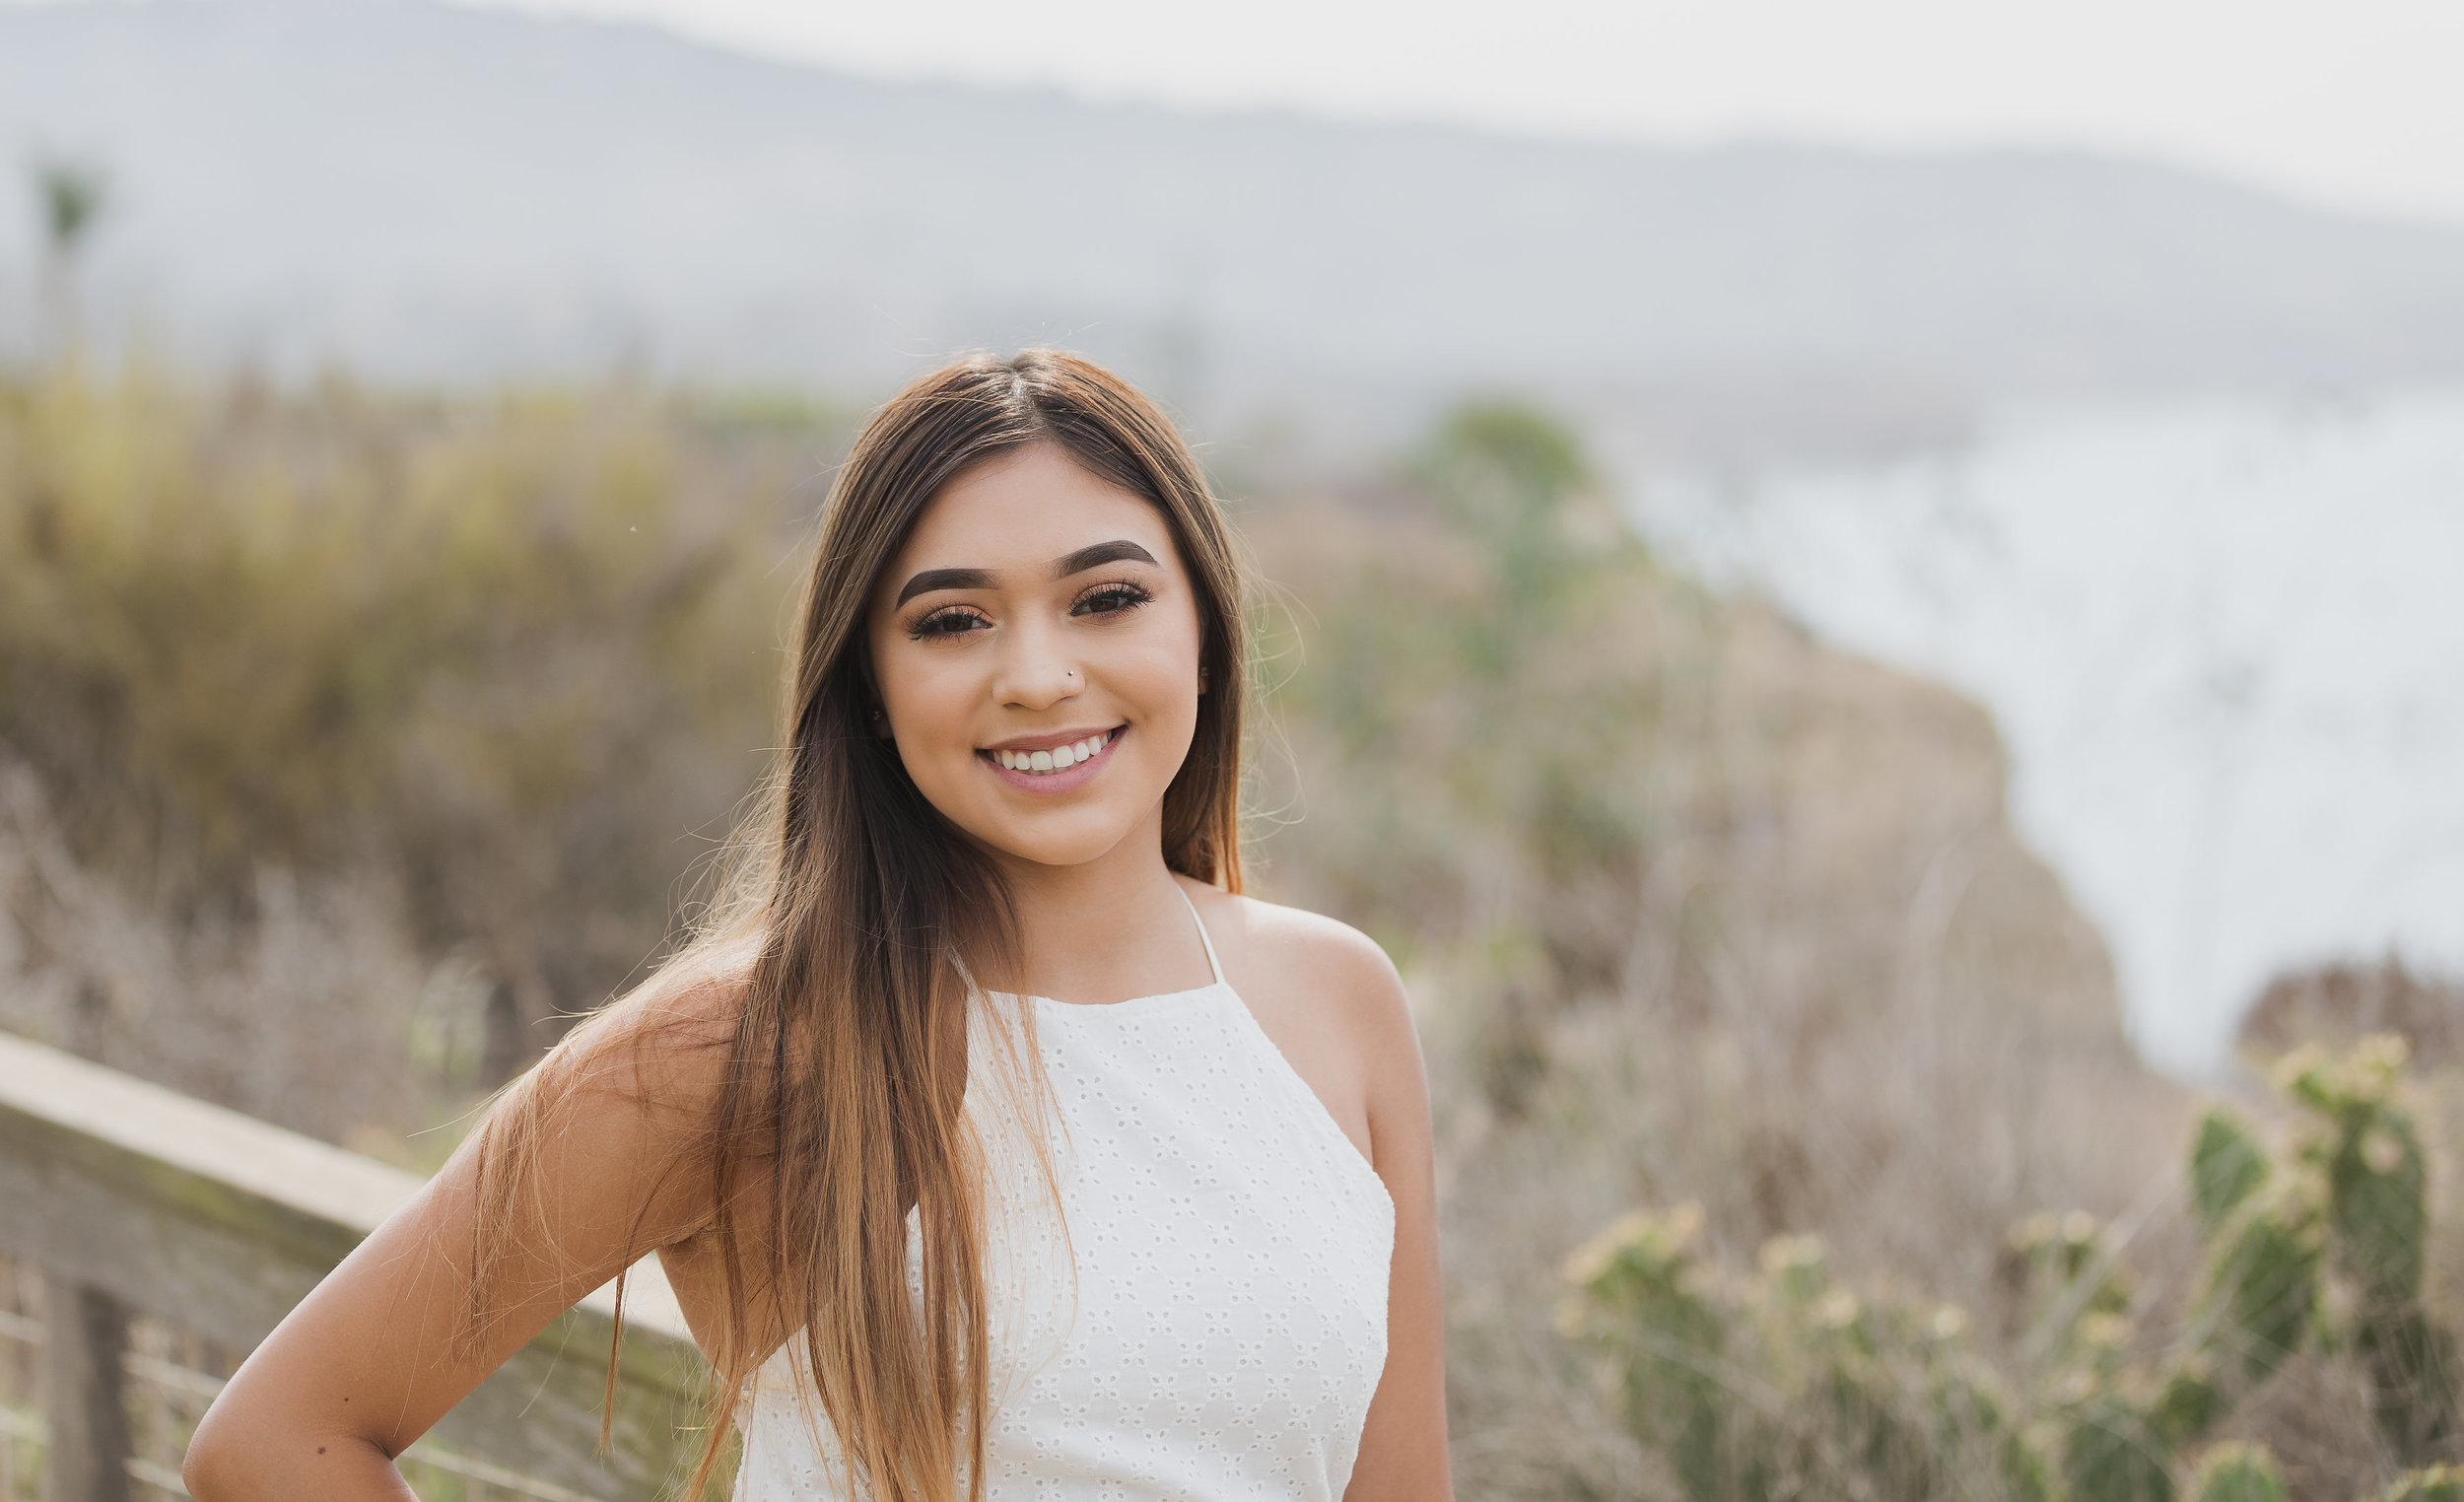
[[2464, 973], [2464, 392], [2013, 409], [1631, 515], [1993, 712], [2154, 1064], [2210, 1074], [2292, 965]]

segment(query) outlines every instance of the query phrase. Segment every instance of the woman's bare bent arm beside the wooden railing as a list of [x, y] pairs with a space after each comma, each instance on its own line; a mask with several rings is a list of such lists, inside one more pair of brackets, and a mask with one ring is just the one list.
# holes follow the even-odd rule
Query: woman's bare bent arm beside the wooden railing
[[493, 1268], [493, 1317], [471, 1327], [480, 1157], [503, 1143], [480, 1130], [239, 1367], [190, 1440], [190, 1495], [409, 1500], [394, 1455], [631, 1258], [707, 1221], [697, 1145], [732, 1000], [663, 975], [549, 1054], [493, 1113], [537, 1123], [535, 1209]]

